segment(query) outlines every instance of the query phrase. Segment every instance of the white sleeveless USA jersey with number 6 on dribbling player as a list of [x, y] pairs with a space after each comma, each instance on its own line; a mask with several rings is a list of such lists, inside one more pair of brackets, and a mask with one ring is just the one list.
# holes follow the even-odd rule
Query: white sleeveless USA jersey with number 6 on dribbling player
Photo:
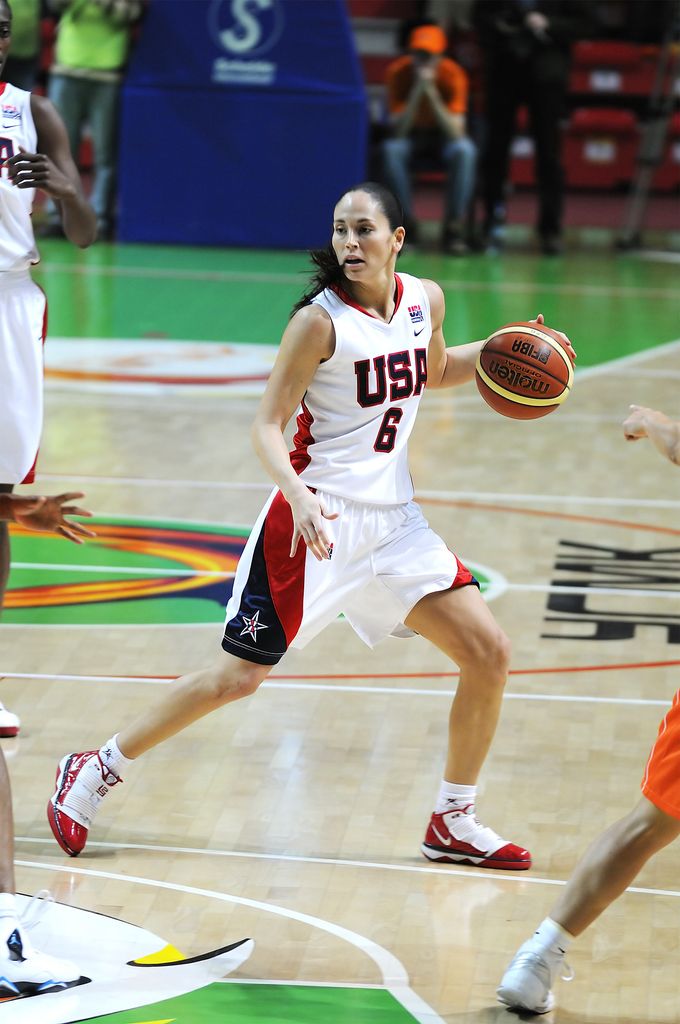
[[432, 335], [422, 282], [406, 273], [394, 280], [389, 324], [340, 290], [312, 299], [333, 321], [335, 351], [307, 388], [291, 453], [308, 486], [376, 505], [413, 498], [407, 447]]

